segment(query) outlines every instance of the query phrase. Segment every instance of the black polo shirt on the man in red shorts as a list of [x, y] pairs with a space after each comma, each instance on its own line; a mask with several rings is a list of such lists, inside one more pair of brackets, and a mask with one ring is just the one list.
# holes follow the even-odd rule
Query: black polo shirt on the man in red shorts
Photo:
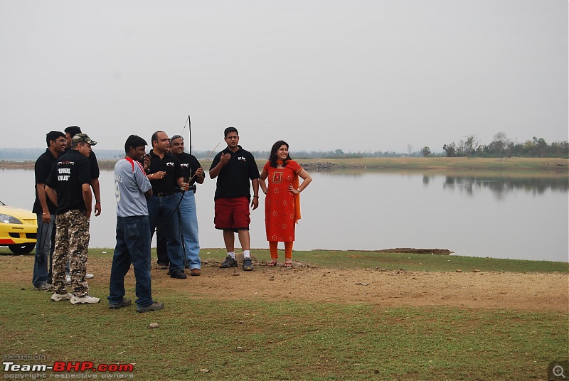
[[259, 178], [259, 168], [252, 154], [238, 147], [236, 152], [224, 149], [211, 162], [210, 171], [218, 165], [222, 154], [231, 155], [230, 161], [218, 174], [215, 200], [235, 197], [251, 199], [250, 180]]

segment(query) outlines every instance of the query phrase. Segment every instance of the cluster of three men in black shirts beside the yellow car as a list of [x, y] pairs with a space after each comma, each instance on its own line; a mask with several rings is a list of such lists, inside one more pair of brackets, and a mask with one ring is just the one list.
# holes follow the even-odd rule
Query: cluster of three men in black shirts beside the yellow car
[[[38, 290], [53, 291], [52, 301], [98, 303], [85, 280], [92, 277], [86, 267], [92, 195], [95, 215], [101, 213], [99, 166], [91, 153], [97, 142], [72, 126], [65, 133], [49, 132], [46, 143], [34, 168], [38, 234], [32, 282]], [[73, 293], [67, 291], [68, 282]]]

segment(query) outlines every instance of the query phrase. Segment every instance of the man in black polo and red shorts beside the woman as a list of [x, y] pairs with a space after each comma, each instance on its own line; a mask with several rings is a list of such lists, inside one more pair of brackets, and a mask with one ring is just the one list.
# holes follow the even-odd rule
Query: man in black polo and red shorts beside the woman
[[[251, 271], [253, 264], [250, 253], [249, 203], [253, 210], [259, 206], [259, 169], [249, 151], [241, 148], [239, 133], [235, 127], [225, 129], [223, 149], [213, 158], [209, 176], [217, 179], [216, 186], [216, 229], [223, 230], [223, 241], [227, 249], [222, 269], [237, 267], [235, 260], [235, 232], [243, 249], [243, 270]], [[250, 182], [249, 182], [250, 181]], [[253, 188], [251, 199], [250, 186]]]

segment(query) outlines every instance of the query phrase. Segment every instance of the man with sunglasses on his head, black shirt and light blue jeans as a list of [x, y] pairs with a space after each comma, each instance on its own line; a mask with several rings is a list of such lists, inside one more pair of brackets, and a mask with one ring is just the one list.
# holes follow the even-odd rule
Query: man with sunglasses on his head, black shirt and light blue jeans
[[190, 269], [190, 275], [201, 275], [200, 241], [198, 239], [198, 214], [196, 213], [196, 183], [203, 184], [203, 168], [196, 156], [184, 152], [184, 138], [180, 135], [172, 136], [170, 140], [170, 152], [180, 161], [184, 183], [189, 184], [187, 192], [178, 193], [180, 206], [178, 214], [184, 244], [184, 257], [186, 268]]

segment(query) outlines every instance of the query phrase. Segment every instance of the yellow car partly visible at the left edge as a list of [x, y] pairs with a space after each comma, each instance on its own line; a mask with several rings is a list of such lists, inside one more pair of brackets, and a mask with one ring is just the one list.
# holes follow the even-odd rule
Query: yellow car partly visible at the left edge
[[14, 254], [29, 254], [36, 247], [37, 236], [35, 213], [0, 201], [0, 246], [8, 246]]

